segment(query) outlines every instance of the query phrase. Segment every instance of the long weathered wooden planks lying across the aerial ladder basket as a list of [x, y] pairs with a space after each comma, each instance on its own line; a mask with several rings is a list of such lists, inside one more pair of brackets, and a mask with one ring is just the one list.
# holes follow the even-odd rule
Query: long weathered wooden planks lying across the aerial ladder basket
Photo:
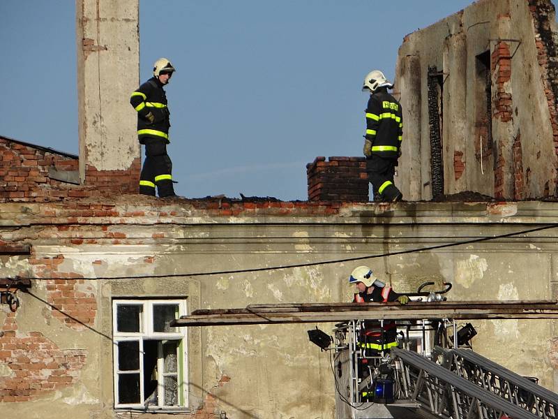
[[174, 327], [257, 325], [273, 323], [336, 323], [366, 320], [422, 320], [428, 318], [527, 319], [558, 318], [556, 300], [479, 302], [398, 302], [251, 304], [244, 309], [201, 309], [175, 320]]

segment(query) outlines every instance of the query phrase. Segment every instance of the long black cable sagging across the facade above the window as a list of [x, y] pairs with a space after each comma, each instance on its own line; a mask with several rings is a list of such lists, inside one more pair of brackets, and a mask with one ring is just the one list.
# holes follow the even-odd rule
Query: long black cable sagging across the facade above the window
[[[366, 255], [366, 256], [356, 256], [353, 258], [341, 258], [341, 259], [334, 259], [334, 260], [322, 260], [318, 262], [307, 262], [307, 263], [294, 263], [291, 265], [279, 265], [279, 266], [271, 266], [271, 267], [254, 267], [250, 269], [238, 269], [238, 270], [220, 270], [220, 271], [212, 271], [212, 272], [190, 272], [186, 274], [175, 273], [175, 274], [152, 274], [152, 275], [137, 275], [137, 276], [126, 276], [126, 277], [76, 277], [75, 279], [85, 279], [88, 281], [95, 281], [95, 280], [111, 280], [111, 279], [165, 279], [165, 278], [178, 278], [178, 277], [206, 277], [210, 275], [225, 275], [225, 274], [241, 274], [247, 272], [264, 272], [264, 271], [271, 271], [271, 270], [281, 270], [281, 269], [292, 269], [295, 267], [308, 267], [308, 266], [319, 266], [319, 265], [330, 265], [332, 263], [344, 263], [344, 262], [354, 262], [356, 260], [365, 260], [365, 259], [374, 259], [374, 258], [384, 258], [388, 256], [398, 256], [404, 255], [408, 253], [418, 253], [421, 251], [430, 251], [435, 249], [446, 249], [449, 247], [456, 247], [462, 246], [463, 244], [472, 244], [472, 243], [480, 243], [480, 242], [488, 242], [490, 240], [498, 240], [505, 237], [513, 237], [515, 235], [527, 234], [527, 233], [534, 233], [536, 231], [548, 230], [550, 228], [557, 228], [558, 224], [550, 224], [543, 227], [531, 228], [528, 230], [521, 230], [516, 231], [513, 233], [506, 233], [502, 235], [495, 235], [492, 237], [478, 237], [476, 239], [471, 240], [462, 240], [460, 242], [451, 242], [446, 244], [437, 244], [435, 246], [427, 246], [421, 247], [418, 249], [409, 249], [409, 250], [402, 250], [402, 251], [394, 251], [391, 253], [380, 253], [377, 255]], [[41, 279], [68, 279], [67, 276], [65, 277], [56, 277], [51, 276], [48, 278], [38, 278], [38, 277], [25, 277], [23, 279], [29, 280], [41, 280]]]

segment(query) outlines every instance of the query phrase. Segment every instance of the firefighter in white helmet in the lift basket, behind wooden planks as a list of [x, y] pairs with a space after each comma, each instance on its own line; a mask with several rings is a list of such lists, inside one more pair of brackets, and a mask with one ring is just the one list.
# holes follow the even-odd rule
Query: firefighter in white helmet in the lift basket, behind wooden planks
[[[368, 266], [356, 267], [349, 277], [349, 284], [356, 284], [359, 291], [354, 294], [353, 302], [391, 302], [407, 304], [409, 297], [400, 295], [379, 281]], [[383, 337], [383, 339], [382, 339]], [[366, 355], [379, 355], [397, 346], [397, 328], [394, 321], [384, 321], [383, 328], [379, 321], [365, 321], [361, 330], [359, 345]]]

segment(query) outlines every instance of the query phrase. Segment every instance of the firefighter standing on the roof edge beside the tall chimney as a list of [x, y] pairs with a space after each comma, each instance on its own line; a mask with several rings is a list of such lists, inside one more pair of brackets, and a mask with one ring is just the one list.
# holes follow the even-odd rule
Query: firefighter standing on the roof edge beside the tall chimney
[[153, 64], [153, 77], [136, 89], [130, 103], [137, 111], [137, 137], [145, 145], [145, 161], [140, 175], [140, 193], [172, 197], [172, 162], [167, 154], [169, 143], [170, 112], [163, 86], [174, 73], [166, 58]]

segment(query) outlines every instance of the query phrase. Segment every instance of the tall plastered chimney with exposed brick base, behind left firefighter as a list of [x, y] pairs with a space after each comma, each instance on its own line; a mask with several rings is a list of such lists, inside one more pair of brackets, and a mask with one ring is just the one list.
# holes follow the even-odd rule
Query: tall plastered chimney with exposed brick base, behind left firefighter
[[129, 98], [140, 82], [138, 0], [77, 0], [80, 182], [136, 192], [141, 156]]

